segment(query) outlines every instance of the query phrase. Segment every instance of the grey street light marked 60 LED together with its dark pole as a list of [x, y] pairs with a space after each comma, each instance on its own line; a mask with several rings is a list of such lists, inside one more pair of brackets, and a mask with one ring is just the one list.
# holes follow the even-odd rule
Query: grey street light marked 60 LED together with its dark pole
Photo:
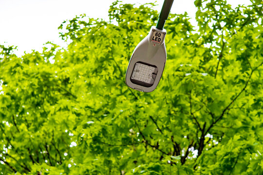
[[152, 26], [149, 34], [134, 49], [127, 71], [128, 87], [142, 91], [153, 91], [164, 71], [166, 63], [166, 47], [164, 29], [173, 0], [165, 0], [157, 25]]

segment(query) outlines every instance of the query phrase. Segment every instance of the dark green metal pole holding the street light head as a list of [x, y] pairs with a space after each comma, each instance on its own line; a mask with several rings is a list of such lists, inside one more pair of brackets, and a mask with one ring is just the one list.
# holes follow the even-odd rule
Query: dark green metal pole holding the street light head
[[171, 6], [172, 6], [173, 0], [165, 0], [161, 13], [159, 15], [157, 24], [156, 24], [156, 28], [163, 30], [164, 29], [164, 25], [165, 25], [165, 21], [168, 19], [170, 10], [171, 10]]

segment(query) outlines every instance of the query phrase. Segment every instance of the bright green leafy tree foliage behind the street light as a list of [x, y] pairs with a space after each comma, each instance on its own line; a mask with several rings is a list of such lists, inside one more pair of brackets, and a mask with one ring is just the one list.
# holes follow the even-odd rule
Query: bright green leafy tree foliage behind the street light
[[1, 46], [0, 175], [262, 175], [263, 5], [251, 2], [196, 0], [198, 31], [171, 14], [151, 93], [124, 81], [151, 3], [65, 21], [67, 49]]

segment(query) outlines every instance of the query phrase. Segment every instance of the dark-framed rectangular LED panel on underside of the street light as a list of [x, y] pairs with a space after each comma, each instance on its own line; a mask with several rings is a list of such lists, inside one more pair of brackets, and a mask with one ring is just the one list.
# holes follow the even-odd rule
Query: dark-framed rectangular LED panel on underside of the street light
[[137, 62], [131, 74], [131, 81], [135, 84], [150, 87], [153, 85], [158, 69], [155, 66]]

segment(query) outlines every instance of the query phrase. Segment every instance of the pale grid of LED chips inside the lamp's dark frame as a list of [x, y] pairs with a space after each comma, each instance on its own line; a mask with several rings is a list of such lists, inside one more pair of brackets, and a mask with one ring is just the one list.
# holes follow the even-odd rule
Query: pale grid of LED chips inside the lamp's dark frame
[[152, 73], [154, 72], [154, 70], [154, 67], [136, 63], [131, 75], [131, 79], [151, 84], [153, 83], [152, 81], [154, 81], [152, 77]]

